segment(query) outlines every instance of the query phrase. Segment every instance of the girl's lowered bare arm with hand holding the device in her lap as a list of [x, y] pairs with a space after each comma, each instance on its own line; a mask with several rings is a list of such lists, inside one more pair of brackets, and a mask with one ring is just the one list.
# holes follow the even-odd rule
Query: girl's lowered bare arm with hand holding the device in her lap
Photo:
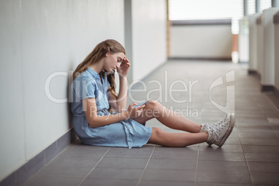
[[142, 114], [144, 105], [136, 108], [133, 108], [133, 105], [136, 105], [136, 103], [130, 104], [128, 110], [120, 112], [116, 115], [98, 116], [96, 100], [94, 98], [83, 99], [83, 110], [85, 110], [86, 119], [92, 128], [114, 124], [124, 119], [139, 117]]

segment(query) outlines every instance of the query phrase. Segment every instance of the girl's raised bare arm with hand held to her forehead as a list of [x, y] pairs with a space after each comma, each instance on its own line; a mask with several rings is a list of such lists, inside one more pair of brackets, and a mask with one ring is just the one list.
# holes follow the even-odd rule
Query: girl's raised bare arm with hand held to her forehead
[[117, 67], [117, 72], [119, 74], [119, 94], [117, 99], [115, 96], [109, 94], [109, 103], [118, 112], [124, 112], [126, 108], [127, 101], [127, 74], [130, 67], [130, 61], [124, 58], [121, 65]]

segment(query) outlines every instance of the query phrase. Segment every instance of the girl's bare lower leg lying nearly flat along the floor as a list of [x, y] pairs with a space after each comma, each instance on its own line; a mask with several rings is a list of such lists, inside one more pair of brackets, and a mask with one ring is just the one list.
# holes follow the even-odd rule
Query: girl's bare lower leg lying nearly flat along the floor
[[165, 133], [159, 128], [152, 128], [149, 144], [162, 146], [183, 147], [199, 144], [208, 140], [208, 133]]

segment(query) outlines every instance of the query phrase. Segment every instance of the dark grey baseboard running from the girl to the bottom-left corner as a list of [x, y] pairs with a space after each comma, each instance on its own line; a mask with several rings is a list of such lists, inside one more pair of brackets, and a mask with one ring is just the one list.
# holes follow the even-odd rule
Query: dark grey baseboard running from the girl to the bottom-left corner
[[42, 152], [35, 155], [34, 158], [22, 165], [22, 167], [19, 167], [19, 169], [1, 180], [0, 185], [22, 185], [26, 180], [37, 173], [37, 171], [40, 171], [40, 169], [51, 162], [53, 158], [56, 158], [56, 156], [66, 149], [71, 142], [74, 142], [74, 140], [76, 140], [76, 133], [74, 132], [74, 128], [71, 128], [65, 135], [62, 135], [62, 137], [56, 140], [56, 142], [53, 142]]

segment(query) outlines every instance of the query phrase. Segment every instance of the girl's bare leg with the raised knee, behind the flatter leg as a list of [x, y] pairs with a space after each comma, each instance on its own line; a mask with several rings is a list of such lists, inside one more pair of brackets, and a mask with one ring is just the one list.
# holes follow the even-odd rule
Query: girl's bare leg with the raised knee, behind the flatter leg
[[165, 126], [176, 130], [184, 130], [189, 133], [199, 133], [201, 130], [201, 125], [165, 108], [157, 101], [149, 101], [144, 107], [142, 115], [135, 118], [135, 121], [144, 124], [144, 122], [152, 118], [156, 118]]

